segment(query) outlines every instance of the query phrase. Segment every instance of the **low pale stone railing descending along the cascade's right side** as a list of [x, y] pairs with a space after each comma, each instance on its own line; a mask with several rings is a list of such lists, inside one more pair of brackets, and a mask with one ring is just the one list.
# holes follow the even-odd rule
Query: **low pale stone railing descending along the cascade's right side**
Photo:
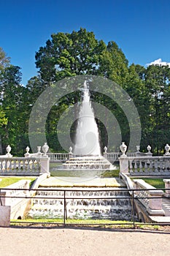
[[[155, 189], [150, 184], [147, 184], [142, 179], [134, 179], [134, 195], [147, 209], [150, 215], [164, 216], [165, 213], [162, 208], [163, 190]], [[139, 190], [137, 190], [139, 189]]]

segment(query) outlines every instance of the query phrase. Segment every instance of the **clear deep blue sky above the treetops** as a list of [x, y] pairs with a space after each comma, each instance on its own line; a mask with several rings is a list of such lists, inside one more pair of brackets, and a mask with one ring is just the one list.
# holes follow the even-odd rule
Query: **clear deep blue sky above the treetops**
[[22, 68], [24, 85], [50, 35], [80, 27], [117, 42], [129, 64], [170, 62], [169, 0], [0, 0], [0, 47]]

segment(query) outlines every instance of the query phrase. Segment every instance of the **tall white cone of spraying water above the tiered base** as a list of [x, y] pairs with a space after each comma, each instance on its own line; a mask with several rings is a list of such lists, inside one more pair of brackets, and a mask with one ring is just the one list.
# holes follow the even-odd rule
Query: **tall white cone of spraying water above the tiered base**
[[75, 156], [101, 156], [98, 127], [91, 107], [87, 83], [84, 83], [83, 100], [79, 113], [74, 146]]

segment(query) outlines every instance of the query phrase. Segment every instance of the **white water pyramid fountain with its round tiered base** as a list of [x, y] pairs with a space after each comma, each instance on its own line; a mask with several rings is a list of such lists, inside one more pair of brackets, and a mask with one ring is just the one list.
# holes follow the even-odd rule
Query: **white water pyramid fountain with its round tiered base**
[[84, 83], [82, 105], [77, 124], [74, 157], [63, 164], [68, 170], [108, 170], [113, 169], [112, 164], [101, 156], [98, 127], [87, 83]]

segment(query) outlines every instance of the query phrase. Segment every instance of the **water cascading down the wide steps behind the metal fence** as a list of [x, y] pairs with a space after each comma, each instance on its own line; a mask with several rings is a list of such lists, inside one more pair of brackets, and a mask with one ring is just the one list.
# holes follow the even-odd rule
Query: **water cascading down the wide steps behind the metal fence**
[[[38, 190], [36, 197], [32, 199], [32, 208], [28, 216], [33, 218], [63, 218], [64, 192], [53, 191], [47, 188]], [[72, 190], [67, 188], [66, 216], [70, 219], [119, 219], [131, 220], [131, 199], [123, 188], [106, 191], [91, 191], [85, 189]], [[76, 197], [73, 199], [73, 197]], [[89, 199], [90, 197], [90, 199]], [[43, 198], [43, 199], [42, 199]]]

